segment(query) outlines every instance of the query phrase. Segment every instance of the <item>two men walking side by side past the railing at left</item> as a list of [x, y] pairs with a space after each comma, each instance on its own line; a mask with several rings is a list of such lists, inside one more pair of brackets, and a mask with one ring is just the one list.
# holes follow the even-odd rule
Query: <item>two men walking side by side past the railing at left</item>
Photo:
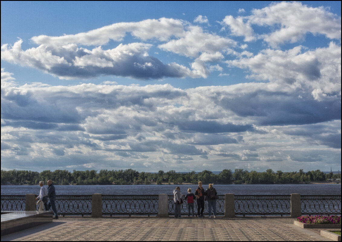
[[[52, 185], [52, 180], [48, 180], [48, 188], [44, 186], [44, 181], [40, 181], [39, 186], [40, 186], [39, 196], [36, 198], [37, 205], [39, 205], [42, 208], [41, 203], [43, 203], [45, 207], [45, 211], [49, 211], [50, 208], [52, 208], [52, 211], [55, 214], [53, 218], [58, 219], [58, 213], [57, 213], [57, 209], [55, 205], [56, 190], [55, 190], [55, 187]], [[48, 201], [48, 198], [49, 198], [49, 201]]]

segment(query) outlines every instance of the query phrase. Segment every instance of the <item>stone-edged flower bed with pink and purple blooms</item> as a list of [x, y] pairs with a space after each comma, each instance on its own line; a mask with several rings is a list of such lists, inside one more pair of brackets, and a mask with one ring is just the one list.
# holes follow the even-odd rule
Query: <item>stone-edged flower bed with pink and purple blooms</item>
[[340, 229], [341, 216], [301, 216], [293, 224], [304, 229]]

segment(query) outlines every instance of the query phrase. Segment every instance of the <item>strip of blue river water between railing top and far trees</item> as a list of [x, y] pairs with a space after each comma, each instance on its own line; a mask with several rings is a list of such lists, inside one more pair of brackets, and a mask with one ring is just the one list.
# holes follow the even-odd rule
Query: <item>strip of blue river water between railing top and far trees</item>
[[[172, 195], [176, 186], [181, 187], [183, 195], [188, 188], [193, 192], [197, 188], [197, 185], [61, 185], [55, 188], [56, 195]], [[203, 188], [208, 188], [208, 185], [203, 185]], [[214, 188], [219, 195], [341, 195], [341, 184], [214, 185]], [[39, 190], [39, 185], [1, 186], [1, 195], [39, 194]]]

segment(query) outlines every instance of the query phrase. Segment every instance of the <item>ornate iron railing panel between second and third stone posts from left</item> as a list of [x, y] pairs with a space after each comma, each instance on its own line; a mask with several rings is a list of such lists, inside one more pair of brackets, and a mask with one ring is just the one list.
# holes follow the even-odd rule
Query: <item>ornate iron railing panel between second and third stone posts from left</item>
[[158, 195], [102, 195], [102, 214], [158, 214]]

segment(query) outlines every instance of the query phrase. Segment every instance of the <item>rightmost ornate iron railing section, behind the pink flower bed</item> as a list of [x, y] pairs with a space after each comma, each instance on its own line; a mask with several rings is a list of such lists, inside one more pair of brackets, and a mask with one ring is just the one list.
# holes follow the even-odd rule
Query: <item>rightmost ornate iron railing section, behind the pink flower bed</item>
[[301, 195], [302, 214], [341, 214], [341, 195]]

